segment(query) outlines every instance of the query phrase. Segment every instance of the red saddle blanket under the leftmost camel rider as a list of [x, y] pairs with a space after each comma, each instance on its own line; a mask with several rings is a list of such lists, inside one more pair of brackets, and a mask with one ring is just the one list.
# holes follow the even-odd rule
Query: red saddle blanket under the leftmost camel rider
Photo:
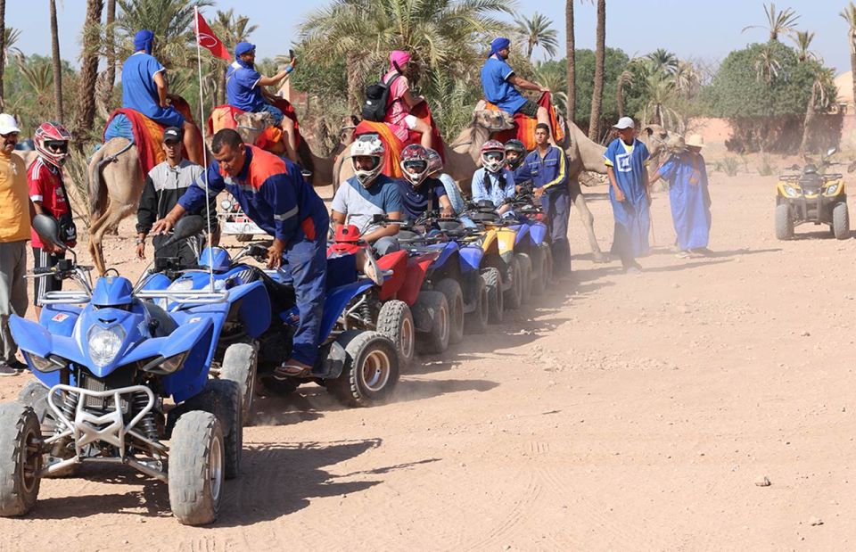
[[[184, 98], [175, 97], [172, 106], [184, 116], [185, 120], [193, 123], [197, 140], [202, 143], [202, 134], [193, 119], [190, 104]], [[139, 111], [123, 107], [114, 110], [107, 118], [107, 124], [104, 126], [104, 142], [106, 143], [111, 138], [122, 137], [136, 144], [137, 155], [140, 159], [140, 170], [143, 171], [144, 175], [147, 175], [155, 165], [167, 159], [166, 153], [161, 147], [164, 128], [166, 127], [149, 119]], [[185, 157], [186, 155], [187, 152], [185, 152]]]

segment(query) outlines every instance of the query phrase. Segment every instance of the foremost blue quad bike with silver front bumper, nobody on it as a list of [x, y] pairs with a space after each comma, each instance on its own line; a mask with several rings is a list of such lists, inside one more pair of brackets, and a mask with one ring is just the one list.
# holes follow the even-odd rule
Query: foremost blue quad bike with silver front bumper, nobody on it
[[[53, 218], [38, 215], [33, 227], [62, 247]], [[202, 218], [188, 218], [168, 244], [201, 229]], [[37, 381], [0, 405], [0, 515], [27, 514], [42, 477], [111, 463], [167, 483], [180, 523], [213, 522], [224, 480], [240, 473], [243, 421], [238, 385], [211, 379], [210, 366], [229, 313], [253, 310], [264, 288], [134, 291], [112, 269], [93, 286], [92, 268], [70, 253], [32, 277], [79, 289], [45, 293], [37, 323], [10, 319]], [[180, 308], [152, 302], [163, 298]], [[265, 329], [261, 320], [248, 333]]]

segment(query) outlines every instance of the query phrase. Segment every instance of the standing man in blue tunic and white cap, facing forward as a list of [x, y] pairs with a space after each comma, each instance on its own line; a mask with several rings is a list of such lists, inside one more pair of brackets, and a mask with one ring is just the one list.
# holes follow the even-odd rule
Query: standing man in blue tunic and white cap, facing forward
[[618, 138], [604, 152], [609, 177], [609, 202], [613, 205], [615, 232], [612, 254], [621, 259], [625, 272], [642, 270], [636, 258], [648, 252], [648, 149], [636, 139], [636, 125], [621, 117], [613, 128]]

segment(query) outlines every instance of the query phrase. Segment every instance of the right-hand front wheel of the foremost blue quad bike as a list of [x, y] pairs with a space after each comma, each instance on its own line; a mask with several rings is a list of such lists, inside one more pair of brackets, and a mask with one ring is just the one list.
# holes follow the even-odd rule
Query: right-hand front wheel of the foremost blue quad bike
[[178, 418], [169, 443], [169, 507], [180, 523], [204, 525], [217, 519], [225, 472], [217, 416], [192, 410]]

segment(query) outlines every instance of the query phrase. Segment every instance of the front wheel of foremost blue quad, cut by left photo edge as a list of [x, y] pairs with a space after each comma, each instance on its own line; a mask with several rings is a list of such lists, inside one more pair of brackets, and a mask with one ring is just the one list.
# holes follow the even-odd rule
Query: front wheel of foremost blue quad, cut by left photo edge
[[17, 401], [0, 405], [0, 515], [24, 515], [36, 506], [41, 440], [32, 408]]

